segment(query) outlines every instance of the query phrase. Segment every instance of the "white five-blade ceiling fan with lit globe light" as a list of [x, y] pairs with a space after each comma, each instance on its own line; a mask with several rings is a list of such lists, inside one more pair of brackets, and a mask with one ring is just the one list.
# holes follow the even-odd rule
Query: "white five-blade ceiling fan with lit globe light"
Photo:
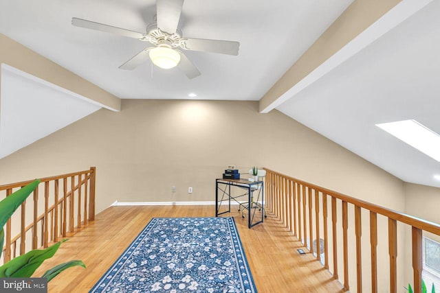
[[129, 38], [137, 38], [153, 45], [153, 47], [147, 47], [133, 56], [133, 58], [121, 65], [120, 69], [133, 70], [150, 58], [154, 65], [164, 69], [177, 66], [191, 79], [199, 76], [201, 73], [180, 49], [234, 56], [239, 54], [239, 42], [184, 38], [181, 31], [177, 29], [183, 5], [184, 0], [157, 0], [155, 22], [147, 25], [146, 33], [133, 32], [120, 27], [104, 25], [76, 17], [72, 18], [72, 25], [100, 32], [110, 32], [120, 36], [128, 36]]

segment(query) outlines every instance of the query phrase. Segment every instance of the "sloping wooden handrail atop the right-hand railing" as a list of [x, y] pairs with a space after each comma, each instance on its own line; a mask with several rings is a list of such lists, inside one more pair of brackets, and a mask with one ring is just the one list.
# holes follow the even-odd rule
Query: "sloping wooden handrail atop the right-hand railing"
[[378, 213], [380, 215], [384, 215], [384, 216], [391, 218], [393, 220], [397, 220], [399, 222], [403, 222], [405, 224], [408, 224], [410, 226], [414, 226], [414, 227], [422, 229], [424, 231], [440, 235], [440, 224], [436, 224], [434, 222], [430, 222], [427, 220], [416, 218], [412, 215], [408, 215], [406, 213], [401, 213], [401, 212], [395, 211], [393, 209], [387, 209], [386, 207], [381, 207], [380, 205], [373, 204], [371, 202], [366, 202], [366, 201], [360, 200], [358, 198], [353, 198], [352, 196], [347, 196], [345, 194], [341, 194], [338, 191], [333, 191], [333, 190], [327, 189], [325, 187], [320, 187], [318, 185], [308, 183], [304, 180], [300, 180], [298, 178], [294, 178], [292, 176], [288, 176], [288, 175], [282, 174], [280, 172], [276, 172], [272, 169], [267, 169], [267, 168], [263, 168], [263, 169], [265, 169], [267, 172], [271, 172], [272, 174], [276, 174], [278, 176], [283, 176], [284, 178], [288, 178], [289, 180], [292, 180], [292, 181], [299, 183], [301, 185], [307, 185], [308, 187], [311, 187], [312, 189], [316, 189], [318, 191], [321, 191], [323, 194], [328, 194], [330, 196], [333, 196], [335, 198], [343, 200], [344, 202], [349, 202], [351, 204], [354, 204], [355, 206], [362, 207], [364, 209], [368, 209], [369, 211], [373, 211], [373, 212]]

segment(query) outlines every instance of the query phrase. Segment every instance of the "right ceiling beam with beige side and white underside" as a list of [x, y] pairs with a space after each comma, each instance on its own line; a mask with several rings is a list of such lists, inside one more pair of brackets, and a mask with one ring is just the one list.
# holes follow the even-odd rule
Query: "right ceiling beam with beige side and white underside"
[[268, 113], [432, 0], [355, 0], [260, 99]]

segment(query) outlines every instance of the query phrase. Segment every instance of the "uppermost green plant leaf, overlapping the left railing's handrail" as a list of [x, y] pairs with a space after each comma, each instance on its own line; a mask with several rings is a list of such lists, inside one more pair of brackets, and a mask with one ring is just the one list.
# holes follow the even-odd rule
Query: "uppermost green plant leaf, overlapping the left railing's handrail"
[[[11, 217], [12, 213], [20, 207], [20, 204], [22, 204], [26, 198], [31, 194], [34, 189], [39, 185], [40, 180], [35, 180], [32, 183], [29, 183], [25, 187], [15, 191], [10, 196], [4, 198], [0, 202], [0, 227], [3, 228], [5, 226], [6, 222], [8, 222], [9, 218]], [[3, 249], [3, 246], [1, 247]]]

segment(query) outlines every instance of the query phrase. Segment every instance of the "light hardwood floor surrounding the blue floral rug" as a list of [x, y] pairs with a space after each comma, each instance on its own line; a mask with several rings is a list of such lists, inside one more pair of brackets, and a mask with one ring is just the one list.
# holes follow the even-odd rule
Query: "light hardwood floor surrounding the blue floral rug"
[[[110, 207], [70, 237], [35, 276], [58, 263], [81, 259], [87, 269], [70, 268], [49, 283], [49, 292], [88, 292], [154, 217], [214, 215], [213, 206]], [[249, 229], [248, 219], [232, 213], [259, 292], [343, 292], [310, 254], [298, 255], [300, 242], [268, 213], [263, 224]]]

